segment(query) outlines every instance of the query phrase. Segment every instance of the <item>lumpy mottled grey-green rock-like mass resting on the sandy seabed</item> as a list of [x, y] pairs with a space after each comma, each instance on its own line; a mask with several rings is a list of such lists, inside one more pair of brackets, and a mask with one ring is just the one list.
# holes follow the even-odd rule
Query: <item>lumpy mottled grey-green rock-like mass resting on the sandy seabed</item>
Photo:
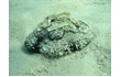
[[47, 57], [62, 57], [86, 47], [94, 34], [85, 22], [70, 19], [68, 14], [64, 12], [45, 18], [26, 37], [25, 47]]

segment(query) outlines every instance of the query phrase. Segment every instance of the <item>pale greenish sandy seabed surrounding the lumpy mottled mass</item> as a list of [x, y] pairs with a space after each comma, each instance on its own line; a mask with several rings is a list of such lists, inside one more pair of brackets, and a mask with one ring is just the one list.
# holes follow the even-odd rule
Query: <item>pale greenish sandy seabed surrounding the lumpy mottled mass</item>
[[[25, 37], [50, 14], [70, 12], [89, 25], [95, 38], [61, 58], [29, 53]], [[110, 76], [111, 0], [9, 0], [10, 76]]]

